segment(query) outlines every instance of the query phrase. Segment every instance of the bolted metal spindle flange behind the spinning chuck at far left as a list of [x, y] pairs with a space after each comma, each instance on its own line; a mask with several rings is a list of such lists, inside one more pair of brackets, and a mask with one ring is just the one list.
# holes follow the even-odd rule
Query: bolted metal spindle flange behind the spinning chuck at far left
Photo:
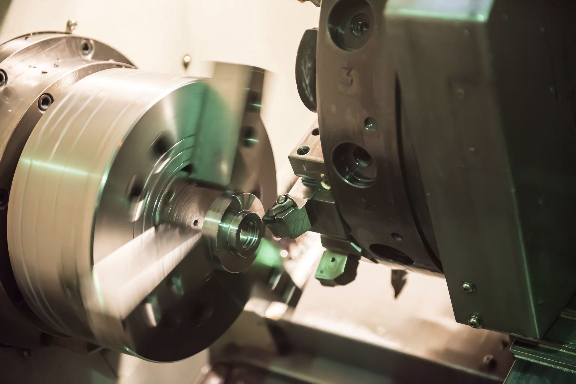
[[[8, 191], [22, 148], [52, 101], [58, 101], [69, 86], [94, 72], [132, 63], [115, 49], [90, 40], [92, 52], [84, 55], [80, 36], [63, 33], [32, 33], [0, 45], [0, 193], [8, 204]], [[49, 101], [45, 103], [43, 101]], [[41, 333], [54, 331], [26, 304], [10, 267], [6, 240], [7, 209], [0, 210], [0, 332], [4, 343], [32, 347], [40, 345]], [[35, 326], [32, 326], [34, 324]]]

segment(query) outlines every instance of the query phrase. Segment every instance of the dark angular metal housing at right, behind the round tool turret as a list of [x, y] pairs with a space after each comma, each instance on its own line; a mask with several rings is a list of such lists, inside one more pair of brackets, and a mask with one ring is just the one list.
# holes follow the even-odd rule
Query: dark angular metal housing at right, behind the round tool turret
[[485, 328], [540, 339], [576, 290], [575, 10], [563, 0], [387, 3], [458, 322], [476, 314]]

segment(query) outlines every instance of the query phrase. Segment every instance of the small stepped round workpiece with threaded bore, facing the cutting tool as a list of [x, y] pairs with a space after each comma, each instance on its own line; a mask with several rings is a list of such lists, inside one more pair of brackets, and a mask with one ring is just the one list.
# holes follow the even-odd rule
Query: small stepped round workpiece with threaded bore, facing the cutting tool
[[222, 194], [204, 218], [202, 233], [210, 246], [210, 258], [225, 271], [242, 272], [256, 258], [264, 236], [264, 209], [249, 193]]

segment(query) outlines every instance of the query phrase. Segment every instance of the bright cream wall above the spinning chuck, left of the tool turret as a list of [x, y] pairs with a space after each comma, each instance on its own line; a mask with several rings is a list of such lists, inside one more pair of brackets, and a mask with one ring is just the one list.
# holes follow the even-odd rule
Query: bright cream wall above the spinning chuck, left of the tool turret
[[142, 70], [210, 76], [215, 61], [264, 68], [272, 75], [262, 118], [276, 170], [293, 174], [287, 153], [316, 119], [298, 97], [294, 63], [302, 33], [318, 26], [319, 14], [320, 8], [295, 0], [2, 0], [0, 41], [63, 31], [75, 18], [74, 33], [111, 45]]

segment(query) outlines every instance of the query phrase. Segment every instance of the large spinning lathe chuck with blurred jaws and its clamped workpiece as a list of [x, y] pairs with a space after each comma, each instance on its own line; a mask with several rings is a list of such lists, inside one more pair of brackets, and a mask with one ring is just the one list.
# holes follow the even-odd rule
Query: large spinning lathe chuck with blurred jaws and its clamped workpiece
[[[48, 46], [70, 39], [36, 36]], [[101, 45], [74, 38], [81, 53], [90, 41], [93, 64]], [[19, 39], [28, 47], [31, 37]], [[198, 79], [109, 63], [51, 94], [45, 110], [29, 96], [39, 121], [14, 130], [25, 147], [2, 212], [24, 309], [12, 314], [51, 335], [180, 360], [213, 343], [248, 299], [237, 272], [264, 235], [260, 198], [275, 197], [263, 72], [217, 64]], [[21, 92], [4, 64], [0, 92]]]

